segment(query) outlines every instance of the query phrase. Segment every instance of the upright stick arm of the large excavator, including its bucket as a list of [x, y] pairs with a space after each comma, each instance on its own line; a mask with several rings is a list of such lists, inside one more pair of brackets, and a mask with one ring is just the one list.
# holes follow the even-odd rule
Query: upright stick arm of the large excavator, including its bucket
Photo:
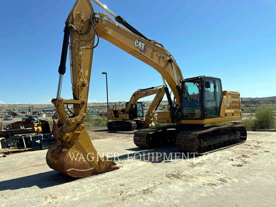
[[[52, 127], [52, 134], [57, 138], [57, 142], [48, 150], [46, 161], [50, 168], [70, 177], [88, 177], [117, 169], [113, 161], [98, 154], [83, 124], [88, 103], [92, 48], [96, 47], [94, 41], [97, 31], [90, 23], [93, 13], [90, 1], [77, 1], [66, 20], [59, 66], [59, 86], [57, 97], [52, 99], [59, 114], [59, 121], [54, 121]], [[60, 97], [68, 46], [73, 95], [70, 100]], [[70, 105], [73, 106], [73, 111], [70, 111]]]

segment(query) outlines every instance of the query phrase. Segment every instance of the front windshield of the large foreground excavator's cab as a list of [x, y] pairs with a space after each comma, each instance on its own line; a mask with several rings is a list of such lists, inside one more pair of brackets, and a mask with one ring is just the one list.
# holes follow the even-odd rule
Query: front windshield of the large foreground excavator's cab
[[201, 117], [201, 81], [184, 83], [181, 108], [184, 118]]

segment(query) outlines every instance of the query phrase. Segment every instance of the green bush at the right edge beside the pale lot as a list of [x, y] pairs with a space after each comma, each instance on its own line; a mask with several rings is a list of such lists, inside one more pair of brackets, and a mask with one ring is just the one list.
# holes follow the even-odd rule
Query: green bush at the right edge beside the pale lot
[[274, 128], [275, 115], [272, 110], [259, 110], [255, 114], [253, 128]]

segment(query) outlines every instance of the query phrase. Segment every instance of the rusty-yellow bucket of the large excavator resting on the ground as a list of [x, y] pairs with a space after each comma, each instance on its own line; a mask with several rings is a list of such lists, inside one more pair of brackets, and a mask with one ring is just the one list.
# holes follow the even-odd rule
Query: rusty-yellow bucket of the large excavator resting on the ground
[[99, 156], [86, 130], [73, 132], [70, 140], [69, 144], [57, 141], [50, 147], [46, 155], [50, 168], [70, 177], [88, 177], [118, 168], [115, 162]]

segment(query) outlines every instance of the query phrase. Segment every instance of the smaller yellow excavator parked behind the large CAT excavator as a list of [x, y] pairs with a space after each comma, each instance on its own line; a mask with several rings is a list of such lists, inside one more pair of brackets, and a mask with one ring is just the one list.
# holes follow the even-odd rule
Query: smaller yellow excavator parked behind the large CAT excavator
[[[135, 130], [155, 126], [153, 124], [154, 111], [157, 110], [165, 95], [164, 88], [165, 86], [157, 86], [139, 89], [132, 94], [130, 101], [126, 102], [126, 108], [108, 109], [108, 130]], [[144, 117], [143, 103], [138, 100], [150, 95], [155, 95], [155, 99]]]

